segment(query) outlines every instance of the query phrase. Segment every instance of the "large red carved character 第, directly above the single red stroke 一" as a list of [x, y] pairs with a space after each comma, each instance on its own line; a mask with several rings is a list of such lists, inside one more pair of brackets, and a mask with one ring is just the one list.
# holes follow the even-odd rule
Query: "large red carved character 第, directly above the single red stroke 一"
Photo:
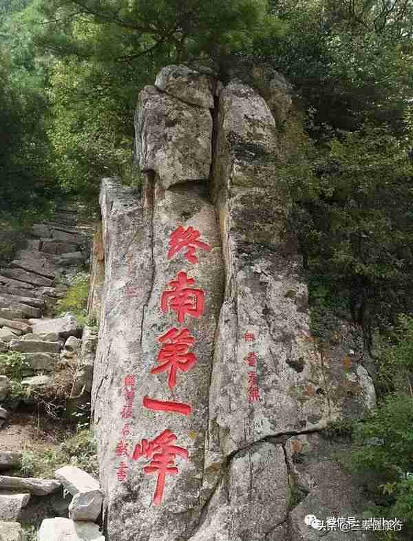
[[168, 386], [173, 389], [176, 385], [178, 369], [187, 372], [198, 360], [195, 354], [188, 352], [195, 343], [195, 338], [191, 336], [188, 329], [179, 330], [173, 327], [160, 337], [159, 341], [163, 343], [157, 359], [160, 366], [152, 368], [151, 374], [159, 374], [169, 368]]

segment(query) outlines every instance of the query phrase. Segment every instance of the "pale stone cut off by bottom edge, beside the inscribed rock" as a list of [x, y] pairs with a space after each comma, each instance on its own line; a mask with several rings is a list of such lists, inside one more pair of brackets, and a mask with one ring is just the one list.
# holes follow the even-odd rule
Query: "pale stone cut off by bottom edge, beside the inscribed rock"
[[46, 518], [41, 523], [38, 541], [105, 541], [97, 524], [74, 522], [69, 518]]

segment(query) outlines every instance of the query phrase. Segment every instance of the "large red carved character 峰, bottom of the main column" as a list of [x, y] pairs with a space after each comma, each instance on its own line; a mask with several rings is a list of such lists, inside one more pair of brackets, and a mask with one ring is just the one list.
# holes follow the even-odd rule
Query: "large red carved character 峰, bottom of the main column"
[[158, 474], [155, 496], [153, 497], [153, 503], [156, 505], [160, 505], [162, 502], [166, 476], [178, 474], [178, 468], [174, 465], [176, 455], [188, 458], [187, 449], [173, 445], [177, 439], [176, 434], [170, 430], [164, 430], [154, 440], [142, 440], [142, 443], [138, 443], [132, 455], [134, 460], [138, 460], [142, 456], [151, 458], [149, 466], [145, 466], [143, 471], [145, 474]]

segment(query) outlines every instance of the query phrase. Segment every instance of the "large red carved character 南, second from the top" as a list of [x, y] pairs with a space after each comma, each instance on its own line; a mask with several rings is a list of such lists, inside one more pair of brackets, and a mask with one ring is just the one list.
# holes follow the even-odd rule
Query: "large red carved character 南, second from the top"
[[171, 308], [178, 314], [178, 321], [184, 322], [185, 315], [200, 317], [204, 311], [204, 292], [202, 289], [191, 288], [195, 279], [189, 278], [187, 273], [178, 273], [178, 279], [171, 280], [169, 286], [172, 290], [162, 293], [161, 306], [164, 312]]

